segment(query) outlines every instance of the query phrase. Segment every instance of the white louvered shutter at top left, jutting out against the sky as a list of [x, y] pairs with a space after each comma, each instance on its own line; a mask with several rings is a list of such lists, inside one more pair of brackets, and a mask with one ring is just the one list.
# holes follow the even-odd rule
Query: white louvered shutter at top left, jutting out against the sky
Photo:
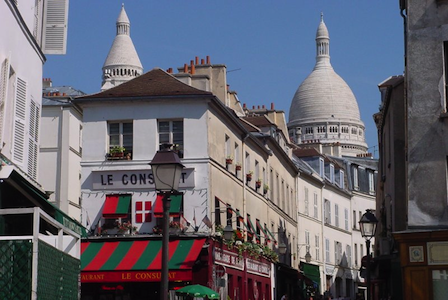
[[45, 54], [65, 54], [67, 50], [69, 0], [46, 0], [42, 51]]

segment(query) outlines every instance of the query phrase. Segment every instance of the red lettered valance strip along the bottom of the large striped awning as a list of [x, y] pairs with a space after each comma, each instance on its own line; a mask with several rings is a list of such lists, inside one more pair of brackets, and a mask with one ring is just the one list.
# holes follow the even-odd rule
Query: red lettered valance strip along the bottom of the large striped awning
[[[191, 270], [176, 270], [168, 273], [169, 281], [191, 281]], [[94, 282], [160, 282], [160, 271], [107, 271], [81, 272], [82, 283]]]

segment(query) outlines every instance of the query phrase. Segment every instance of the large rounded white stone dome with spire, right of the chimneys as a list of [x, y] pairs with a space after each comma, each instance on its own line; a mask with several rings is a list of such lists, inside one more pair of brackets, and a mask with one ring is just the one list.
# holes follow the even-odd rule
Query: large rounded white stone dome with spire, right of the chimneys
[[323, 17], [316, 33], [316, 65], [294, 95], [288, 128], [297, 144], [340, 145], [341, 155], [367, 152], [356, 98], [330, 63], [330, 36]]

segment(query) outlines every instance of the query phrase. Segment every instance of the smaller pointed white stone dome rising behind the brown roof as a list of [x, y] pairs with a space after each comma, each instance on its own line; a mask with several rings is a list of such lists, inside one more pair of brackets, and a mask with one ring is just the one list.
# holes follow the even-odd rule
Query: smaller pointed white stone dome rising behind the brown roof
[[120, 85], [143, 73], [143, 67], [130, 36], [131, 24], [121, 7], [117, 18], [117, 35], [103, 65], [103, 82], [101, 90]]

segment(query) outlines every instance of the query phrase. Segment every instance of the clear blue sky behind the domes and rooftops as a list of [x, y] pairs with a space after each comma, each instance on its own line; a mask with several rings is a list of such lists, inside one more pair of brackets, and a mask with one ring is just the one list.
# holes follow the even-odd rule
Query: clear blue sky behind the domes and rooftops
[[176, 70], [208, 55], [212, 64], [227, 66], [230, 89], [242, 103], [273, 102], [287, 118], [294, 93], [314, 67], [322, 12], [331, 63], [353, 90], [369, 151], [378, 155], [372, 118], [378, 84], [404, 69], [398, 0], [72, 0], [67, 54], [48, 55], [44, 77], [53, 85], [99, 91], [122, 3], [145, 72]]

